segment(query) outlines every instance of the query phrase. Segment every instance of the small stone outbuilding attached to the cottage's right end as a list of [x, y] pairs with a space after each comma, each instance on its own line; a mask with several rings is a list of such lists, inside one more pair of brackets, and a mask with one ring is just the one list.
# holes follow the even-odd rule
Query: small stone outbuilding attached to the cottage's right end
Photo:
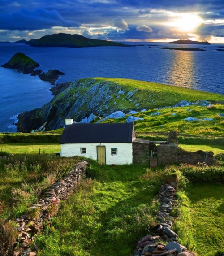
[[132, 143], [133, 163], [149, 165], [149, 140], [135, 139]]

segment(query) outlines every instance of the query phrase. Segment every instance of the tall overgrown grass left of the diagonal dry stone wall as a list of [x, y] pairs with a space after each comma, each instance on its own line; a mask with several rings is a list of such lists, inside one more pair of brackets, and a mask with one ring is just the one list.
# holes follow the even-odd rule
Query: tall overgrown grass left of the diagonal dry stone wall
[[67, 174], [78, 157], [15, 154], [0, 151], [0, 219], [21, 216], [44, 189]]

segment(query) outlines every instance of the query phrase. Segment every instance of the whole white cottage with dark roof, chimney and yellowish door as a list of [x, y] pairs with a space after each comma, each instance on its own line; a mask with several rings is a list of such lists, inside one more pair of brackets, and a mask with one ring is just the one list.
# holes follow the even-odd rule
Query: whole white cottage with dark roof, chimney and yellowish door
[[133, 163], [133, 123], [73, 123], [67, 119], [62, 134], [61, 156], [84, 156], [100, 164]]

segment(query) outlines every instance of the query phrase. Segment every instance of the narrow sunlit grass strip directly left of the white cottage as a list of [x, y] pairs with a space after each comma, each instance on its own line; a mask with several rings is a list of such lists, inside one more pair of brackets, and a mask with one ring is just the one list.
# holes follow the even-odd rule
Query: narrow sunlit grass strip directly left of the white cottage
[[55, 154], [60, 151], [59, 143], [2, 143], [0, 150], [12, 154]]

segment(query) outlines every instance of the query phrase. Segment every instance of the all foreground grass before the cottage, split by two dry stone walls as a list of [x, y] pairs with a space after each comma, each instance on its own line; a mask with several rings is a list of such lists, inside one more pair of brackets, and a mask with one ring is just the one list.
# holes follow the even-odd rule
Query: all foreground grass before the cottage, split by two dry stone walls
[[[80, 161], [47, 154], [12, 156], [1, 152], [0, 156], [1, 219], [10, 213], [21, 216], [31, 203], [38, 201], [46, 187]], [[175, 172], [179, 176], [180, 204], [173, 210], [173, 216], [177, 217], [174, 229], [180, 242], [201, 256], [213, 256], [217, 250], [222, 252], [223, 185], [209, 184], [211, 175], [215, 181], [223, 180], [224, 158], [219, 159], [220, 165], [211, 168], [174, 165], [157, 169], [142, 165], [99, 166], [90, 161], [87, 179], [83, 179], [76, 192], [62, 204], [51, 226], [46, 226], [35, 237], [41, 249], [39, 256], [130, 255], [136, 242], [157, 223], [155, 215], [159, 204], [155, 196], [162, 181], [169, 181]], [[208, 183], [192, 183], [189, 187], [183, 174], [188, 180], [200, 182], [205, 176]]]

